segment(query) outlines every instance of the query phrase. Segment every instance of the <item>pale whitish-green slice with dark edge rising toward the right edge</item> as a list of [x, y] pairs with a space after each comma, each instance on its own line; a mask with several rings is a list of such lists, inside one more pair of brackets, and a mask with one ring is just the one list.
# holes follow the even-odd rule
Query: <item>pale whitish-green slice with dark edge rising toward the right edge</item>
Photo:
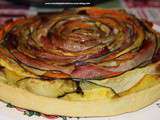
[[143, 68], [130, 70], [120, 76], [108, 78], [104, 80], [89, 80], [98, 85], [112, 88], [116, 93], [124, 92], [136, 85], [147, 74], [160, 74], [160, 63], [151, 64]]

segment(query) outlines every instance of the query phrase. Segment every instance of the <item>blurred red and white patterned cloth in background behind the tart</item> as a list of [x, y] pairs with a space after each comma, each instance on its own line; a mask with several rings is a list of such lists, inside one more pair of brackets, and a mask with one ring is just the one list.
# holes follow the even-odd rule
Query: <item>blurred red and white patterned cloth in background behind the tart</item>
[[[28, 2], [31, 6], [15, 4], [13, 1], [14, 0], [0, 0], [0, 24], [10, 18], [36, 15], [44, 12], [61, 11], [63, 9], [55, 9], [52, 6], [42, 6], [38, 4], [34, 6], [34, 2]], [[160, 25], [160, 0], [105, 0], [105, 2], [96, 6], [101, 8], [126, 9], [128, 12], [135, 14], [139, 18], [148, 19]]]

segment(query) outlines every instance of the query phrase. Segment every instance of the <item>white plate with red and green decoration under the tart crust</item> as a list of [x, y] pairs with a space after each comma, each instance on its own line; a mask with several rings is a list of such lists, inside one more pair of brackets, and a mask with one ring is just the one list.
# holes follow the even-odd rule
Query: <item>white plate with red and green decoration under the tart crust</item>
[[[62, 118], [28, 117], [23, 112], [8, 108], [6, 103], [0, 102], [0, 120], [62, 120]], [[77, 118], [67, 118], [67, 120], [77, 120]], [[160, 120], [160, 100], [136, 112], [113, 117], [79, 118], [79, 120]]]

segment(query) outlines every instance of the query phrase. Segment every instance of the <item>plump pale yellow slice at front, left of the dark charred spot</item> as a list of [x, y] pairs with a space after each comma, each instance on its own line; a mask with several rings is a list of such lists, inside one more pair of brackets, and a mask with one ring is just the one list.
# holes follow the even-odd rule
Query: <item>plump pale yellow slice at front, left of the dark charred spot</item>
[[17, 85], [32, 93], [47, 97], [58, 97], [76, 91], [76, 84], [71, 80], [45, 81], [28, 78], [18, 81]]

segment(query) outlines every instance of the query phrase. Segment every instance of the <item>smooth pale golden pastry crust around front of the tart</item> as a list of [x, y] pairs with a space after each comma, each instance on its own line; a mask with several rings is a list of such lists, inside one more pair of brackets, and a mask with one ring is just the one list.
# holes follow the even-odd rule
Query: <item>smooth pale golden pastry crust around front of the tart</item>
[[[67, 101], [35, 95], [0, 82], [0, 98], [18, 107], [49, 115], [113, 116], [144, 108], [160, 98], [160, 84], [111, 100]], [[10, 92], [12, 91], [12, 92]], [[85, 109], [84, 109], [85, 108]]]

